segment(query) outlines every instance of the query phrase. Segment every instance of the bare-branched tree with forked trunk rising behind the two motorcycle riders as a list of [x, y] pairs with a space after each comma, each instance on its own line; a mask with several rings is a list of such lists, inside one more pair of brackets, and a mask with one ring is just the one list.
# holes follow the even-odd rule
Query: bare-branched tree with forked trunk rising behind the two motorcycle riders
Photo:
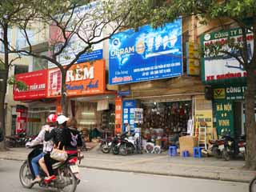
[[[46, 59], [59, 68], [62, 74], [61, 103], [63, 114], [67, 114], [68, 106], [66, 97], [67, 70], [78, 61], [82, 54], [90, 53], [99, 42], [111, 38], [118, 30], [122, 30], [122, 27], [127, 25], [131, 13], [134, 13], [134, 9], [139, 4], [140, 1], [138, 0], [96, 2], [45, 0], [31, 2], [34, 12], [38, 14], [40, 19], [20, 22], [19, 27], [29, 46], [27, 50], [18, 50], [18, 53]], [[40, 55], [33, 50], [27, 33], [27, 30], [33, 26], [33, 22], [41, 22], [45, 27], [50, 26], [50, 33], [54, 31], [54, 38], [50, 37], [49, 55]], [[79, 42], [80, 45], [75, 46], [74, 42]], [[70, 55], [70, 50], [73, 50], [72, 55]], [[62, 65], [59, 57], [66, 59], [65, 66]]]

